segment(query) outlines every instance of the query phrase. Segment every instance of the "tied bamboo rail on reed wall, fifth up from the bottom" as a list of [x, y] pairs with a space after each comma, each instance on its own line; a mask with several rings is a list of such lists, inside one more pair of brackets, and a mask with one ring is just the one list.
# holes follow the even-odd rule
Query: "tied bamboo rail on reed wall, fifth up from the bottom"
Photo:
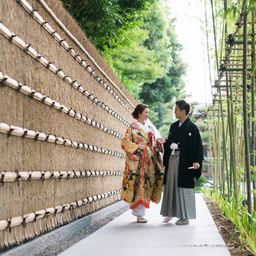
[[[119, 116], [114, 110], [109, 108], [107, 105], [104, 104], [104, 102], [100, 102], [97, 97], [94, 97], [92, 94], [90, 94], [87, 90], [85, 90], [81, 85], [79, 85], [76, 80], [72, 80], [70, 77], [66, 76], [61, 69], [58, 69], [55, 67], [55, 65], [52, 64], [52, 62], [47, 61], [46, 58], [44, 58], [42, 55], [38, 54], [38, 52], [33, 49], [30, 44], [26, 44], [21, 38], [19, 38], [15, 33], [11, 32], [6, 26], [4, 26], [2, 23], [0, 23], [0, 33], [2, 33], [11, 43], [14, 43], [21, 49], [23, 49], [28, 55], [30, 55], [32, 58], [36, 59], [39, 63], [43, 64], [44, 67], [47, 67], [49, 70], [51, 70], [55, 75], [58, 75], [61, 77], [64, 81], [68, 82], [70, 85], [72, 85], [76, 90], [83, 93], [87, 98], [91, 99], [93, 102], [95, 102], [97, 105], [99, 105], [101, 108], [105, 109], [108, 113], [110, 113], [112, 116], [116, 117], [119, 121], [124, 123], [126, 126], [129, 126], [130, 124], [125, 121], [122, 117]], [[113, 91], [110, 93], [113, 93]]]

